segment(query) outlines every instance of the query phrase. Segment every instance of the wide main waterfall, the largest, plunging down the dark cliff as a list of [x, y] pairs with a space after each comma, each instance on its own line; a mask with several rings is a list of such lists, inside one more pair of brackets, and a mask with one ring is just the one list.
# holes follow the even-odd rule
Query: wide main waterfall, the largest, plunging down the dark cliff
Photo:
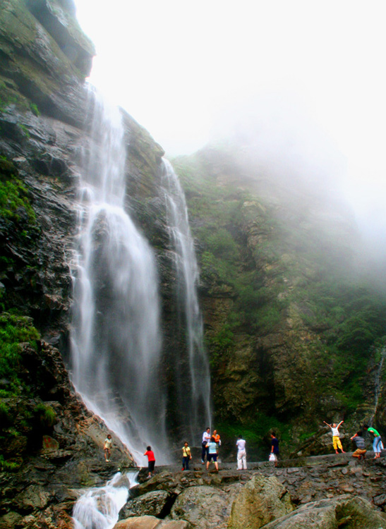
[[90, 108], [73, 273], [72, 380], [137, 463], [145, 464], [147, 444], [157, 462], [165, 463], [155, 258], [124, 209], [126, 146], [120, 111], [94, 92]]

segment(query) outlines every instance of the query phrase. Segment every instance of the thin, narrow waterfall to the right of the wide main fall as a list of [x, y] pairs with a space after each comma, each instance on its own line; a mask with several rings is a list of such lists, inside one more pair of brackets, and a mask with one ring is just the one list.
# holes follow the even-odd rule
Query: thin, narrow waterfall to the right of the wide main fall
[[[164, 160], [162, 186], [167, 207], [167, 224], [174, 249], [177, 277], [176, 297], [180, 328], [184, 329], [187, 365], [176, 373], [179, 409], [186, 410], [183, 430], [193, 444], [200, 444], [201, 432], [210, 425], [210, 370], [203, 343], [203, 320], [198, 305], [198, 264], [188, 222], [188, 209], [179, 178]], [[186, 362], [185, 362], [186, 364]]]

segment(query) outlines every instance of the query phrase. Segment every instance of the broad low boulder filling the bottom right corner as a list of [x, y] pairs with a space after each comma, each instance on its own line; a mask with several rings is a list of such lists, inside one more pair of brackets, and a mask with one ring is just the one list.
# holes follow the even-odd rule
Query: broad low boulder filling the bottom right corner
[[385, 529], [386, 517], [360, 497], [349, 495], [312, 501], [264, 529]]

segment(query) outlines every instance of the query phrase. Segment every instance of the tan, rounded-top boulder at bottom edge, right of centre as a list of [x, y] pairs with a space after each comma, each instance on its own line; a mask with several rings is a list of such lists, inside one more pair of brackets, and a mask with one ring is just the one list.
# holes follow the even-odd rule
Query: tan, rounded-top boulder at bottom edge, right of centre
[[255, 474], [232, 505], [228, 529], [259, 529], [293, 510], [289, 492], [275, 476]]

